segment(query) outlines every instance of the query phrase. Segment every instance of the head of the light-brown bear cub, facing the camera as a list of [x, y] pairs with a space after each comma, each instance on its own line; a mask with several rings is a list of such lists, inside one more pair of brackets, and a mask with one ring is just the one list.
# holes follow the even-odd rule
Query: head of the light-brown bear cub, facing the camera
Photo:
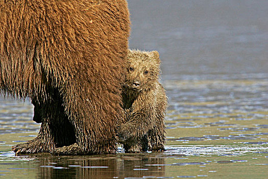
[[157, 51], [129, 50], [125, 85], [134, 91], [153, 89], [158, 82], [160, 59]]

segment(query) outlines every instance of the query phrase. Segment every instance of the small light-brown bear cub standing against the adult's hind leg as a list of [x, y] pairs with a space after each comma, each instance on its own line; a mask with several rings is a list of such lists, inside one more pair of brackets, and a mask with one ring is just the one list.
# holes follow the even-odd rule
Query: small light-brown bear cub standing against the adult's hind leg
[[125, 120], [118, 127], [126, 152], [164, 151], [167, 97], [159, 83], [157, 51], [130, 50], [123, 87]]

